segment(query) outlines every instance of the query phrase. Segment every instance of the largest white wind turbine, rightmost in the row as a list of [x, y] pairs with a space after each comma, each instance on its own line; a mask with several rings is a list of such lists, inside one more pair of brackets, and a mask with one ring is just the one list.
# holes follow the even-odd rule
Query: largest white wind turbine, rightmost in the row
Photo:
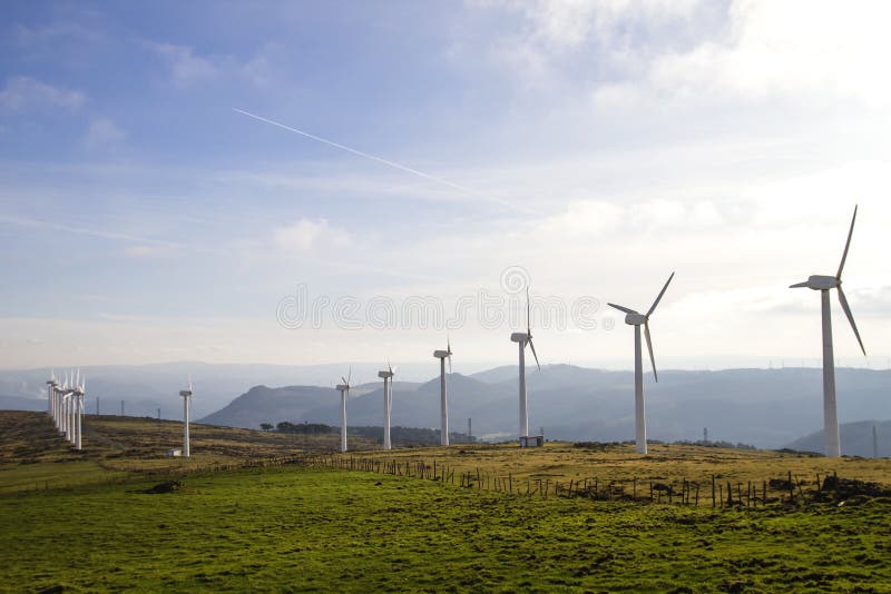
[[851, 314], [848, 299], [844, 297], [844, 291], [842, 290], [842, 270], [844, 269], [844, 260], [848, 258], [848, 248], [851, 247], [851, 236], [854, 232], [855, 220], [856, 206], [854, 206], [854, 216], [851, 217], [851, 228], [848, 230], [848, 242], [844, 244], [842, 261], [839, 265], [839, 271], [835, 273], [835, 276], [811, 275], [804, 283], [796, 283], [790, 287], [807, 287], [809, 289], [820, 291], [823, 317], [823, 433], [825, 435], [825, 454], [830, 458], [838, 458], [842, 455], [841, 442], [839, 439], [839, 414], [835, 407], [835, 362], [832, 353], [832, 315], [829, 308], [829, 291], [831, 289], [839, 289], [839, 301], [842, 304], [844, 315], [848, 316], [848, 321], [851, 323], [851, 328], [854, 330], [854, 336], [856, 336], [856, 341], [860, 344], [863, 356], [866, 355], [866, 349], [863, 348], [863, 340], [860, 339], [860, 333], [856, 330], [854, 316]]

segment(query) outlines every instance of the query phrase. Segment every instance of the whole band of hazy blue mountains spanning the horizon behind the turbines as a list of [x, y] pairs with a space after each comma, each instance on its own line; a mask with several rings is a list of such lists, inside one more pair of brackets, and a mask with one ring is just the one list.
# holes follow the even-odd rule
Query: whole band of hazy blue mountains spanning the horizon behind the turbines
[[[87, 410], [95, 396], [104, 414], [117, 414], [126, 400], [128, 415], [179, 418], [178, 397], [187, 376], [195, 380], [195, 418], [234, 427], [257, 428], [261, 423], [325, 423], [340, 425], [340, 396], [321, 385], [333, 385], [346, 365], [286, 367], [272, 365], [208, 365], [177, 363], [148, 366], [92, 367], [87, 375]], [[353, 369], [353, 378], [374, 377], [371, 369]], [[49, 369], [0, 372], [0, 408], [41, 410], [41, 392]], [[570, 365], [549, 365], [527, 375], [530, 426], [554, 439], [625, 440], [634, 436], [634, 375]], [[843, 423], [891, 418], [891, 372], [836, 369], [839, 416]], [[821, 451], [796, 446], [822, 429], [822, 373], [819, 368], [727, 369], [722, 372], [665, 370], [659, 382], [645, 376], [647, 429], [652, 439], [695, 440], [708, 428], [708, 438], [758, 447]], [[285, 387], [267, 387], [285, 386]], [[350, 425], [381, 425], [383, 393], [379, 382], [358, 385], [349, 403]], [[449, 376], [451, 427], [495, 439], [517, 433], [517, 367]], [[32, 406], [31, 406], [32, 405]], [[202, 418], [204, 417], [204, 418]], [[439, 378], [427, 383], [396, 382], [393, 425], [439, 425]], [[870, 422], [872, 423], [872, 422]], [[871, 430], [871, 429], [870, 429]], [[803, 435], [807, 437], [802, 438]], [[843, 437], [844, 439], [844, 437]], [[871, 439], [871, 437], [870, 437]], [[880, 444], [891, 440], [882, 437]], [[794, 444], [793, 444], [794, 442]], [[805, 444], [806, 445], [806, 444]], [[853, 447], [853, 446], [852, 446]], [[871, 455], [871, 443], [869, 455]], [[844, 449], [843, 452], [849, 453]], [[853, 453], [853, 451], [851, 452]]]

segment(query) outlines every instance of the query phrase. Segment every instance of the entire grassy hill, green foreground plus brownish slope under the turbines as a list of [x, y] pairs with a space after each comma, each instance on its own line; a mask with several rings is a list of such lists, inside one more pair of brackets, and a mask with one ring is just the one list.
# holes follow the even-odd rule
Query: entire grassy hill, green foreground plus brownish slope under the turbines
[[[0, 414], [0, 591], [891, 590], [887, 459], [657, 444], [642, 457], [626, 444], [566, 443], [337, 455], [323, 443], [301, 444], [303, 436], [207, 426], [195, 428], [196, 457], [183, 461], [158, 454], [178, 445], [180, 424], [89, 422], [89, 446], [77, 453], [46, 415]], [[237, 467], [295, 453], [307, 464]], [[393, 468], [437, 461], [440, 473], [444, 465], [481, 481], [468, 488], [441, 474], [323, 466], [362, 461]], [[811, 476], [833, 472], [880, 485], [816, 496]], [[68, 478], [37, 479], [49, 473]], [[564, 491], [545, 498], [505, 487], [508, 476], [515, 484], [599, 477], [603, 485], [787, 473], [812, 495], [795, 491], [790, 501], [781, 488], [766, 506], [712, 508], [679, 497], [644, 503]], [[157, 493], [170, 478], [177, 483]]]

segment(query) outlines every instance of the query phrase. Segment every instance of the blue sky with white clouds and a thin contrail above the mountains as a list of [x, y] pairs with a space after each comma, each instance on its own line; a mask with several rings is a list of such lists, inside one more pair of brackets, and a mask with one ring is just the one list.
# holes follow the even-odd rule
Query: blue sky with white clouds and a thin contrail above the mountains
[[[885, 367], [888, 11], [9, 2], [0, 362], [425, 360], [447, 330], [407, 298], [508, 311], [518, 266], [547, 363], [629, 367], [605, 304], [645, 308], [676, 270], [657, 362], [814, 365], [819, 297], [786, 287], [835, 270], [860, 204], [844, 286], [870, 358], [834, 305], [836, 354]], [[285, 328], [298, 286], [319, 324]], [[546, 319], [586, 299], [596, 328]], [[512, 363], [522, 320], [478, 317], [449, 330], [466, 369]]]

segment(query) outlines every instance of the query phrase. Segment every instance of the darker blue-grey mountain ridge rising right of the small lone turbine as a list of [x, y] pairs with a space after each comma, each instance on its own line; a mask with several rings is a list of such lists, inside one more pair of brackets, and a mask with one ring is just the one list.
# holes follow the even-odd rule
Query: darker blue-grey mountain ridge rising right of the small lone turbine
[[[842, 419], [891, 416], [891, 373], [836, 370]], [[649, 376], [652, 379], [652, 376]], [[709, 439], [784, 447], [822, 426], [820, 369], [730, 369], [664, 372], [659, 383], [647, 382], [647, 425], [653, 439]], [[528, 375], [530, 424], [554, 439], [624, 440], [634, 435], [634, 376], [554, 365]], [[383, 390], [361, 386], [347, 406], [350, 425], [380, 425]], [[510, 438], [517, 433], [517, 369], [499, 367], [449, 376], [452, 428], [473, 435]], [[309, 422], [340, 424], [339, 395], [332, 388], [257, 387], [206, 423], [257, 427], [260, 423]], [[409, 427], [439, 424], [439, 380], [400, 384], [393, 389], [392, 422]], [[822, 446], [816, 448], [822, 449]]]

